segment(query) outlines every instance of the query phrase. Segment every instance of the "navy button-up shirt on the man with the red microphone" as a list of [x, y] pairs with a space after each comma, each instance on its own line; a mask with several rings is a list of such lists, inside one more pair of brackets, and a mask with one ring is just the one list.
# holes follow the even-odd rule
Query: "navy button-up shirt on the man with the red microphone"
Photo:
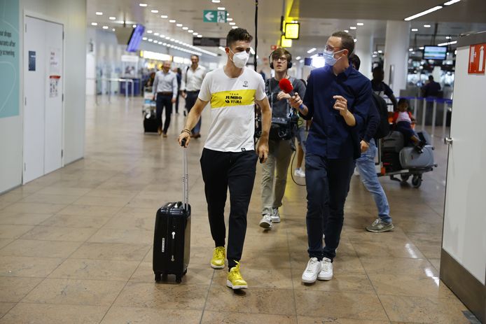
[[[361, 156], [359, 131], [368, 115], [371, 92], [370, 80], [352, 66], [338, 76], [335, 76], [332, 66], [313, 70], [303, 100], [309, 113], [302, 117], [306, 120], [312, 118], [305, 146], [307, 153], [328, 159], [356, 159]], [[348, 126], [339, 111], [333, 108], [335, 95], [347, 99], [347, 108], [356, 119], [354, 127]]]

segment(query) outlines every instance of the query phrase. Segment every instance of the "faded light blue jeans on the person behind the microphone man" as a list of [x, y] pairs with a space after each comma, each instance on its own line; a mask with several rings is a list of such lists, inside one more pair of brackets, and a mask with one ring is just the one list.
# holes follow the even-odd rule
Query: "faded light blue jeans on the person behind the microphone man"
[[385, 223], [391, 222], [390, 206], [388, 204], [387, 195], [385, 195], [378, 176], [375, 170], [375, 155], [377, 148], [375, 140], [370, 141], [370, 147], [366, 152], [361, 153], [361, 157], [356, 160], [356, 167], [358, 168], [361, 181], [366, 189], [371, 192], [375, 199], [375, 204], [378, 209], [378, 217]]

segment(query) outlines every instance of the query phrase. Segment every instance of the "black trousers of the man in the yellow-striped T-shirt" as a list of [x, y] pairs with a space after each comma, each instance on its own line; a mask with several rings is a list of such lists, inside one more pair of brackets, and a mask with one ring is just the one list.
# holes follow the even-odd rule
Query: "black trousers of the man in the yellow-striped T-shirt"
[[225, 246], [226, 227], [224, 207], [230, 189], [230, 218], [228, 230], [228, 270], [242, 258], [247, 234], [247, 213], [256, 174], [254, 150], [219, 152], [204, 148], [201, 155], [202, 179], [206, 194], [209, 227], [215, 246]]

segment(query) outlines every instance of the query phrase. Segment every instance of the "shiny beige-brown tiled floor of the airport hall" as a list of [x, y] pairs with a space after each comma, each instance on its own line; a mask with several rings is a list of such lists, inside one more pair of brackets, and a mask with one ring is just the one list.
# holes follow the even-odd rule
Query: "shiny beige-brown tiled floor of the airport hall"
[[[189, 150], [188, 274], [180, 285], [153, 282], [155, 211], [181, 196], [182, 113], [163, 139], [143, 134], [139, 99], [87, 106], [85, 158], [0, 196], [0, 323], [468, 323], [438, 279], [446, 155], [438, 140], [439, 167], [421, 188], [382, 178], [394, 232], [363, 230], [375, 204], [352, 179], [335, 277], [310, 286], [300, 282], [305, 188], [289, 178], [282, 223], [263, 232], [258, 167], [242, 259], [249, 289], [233, 293], [225, 270], [209, 267], [202, 139]], [[203, 134], [208, 125], [204, 111]]]

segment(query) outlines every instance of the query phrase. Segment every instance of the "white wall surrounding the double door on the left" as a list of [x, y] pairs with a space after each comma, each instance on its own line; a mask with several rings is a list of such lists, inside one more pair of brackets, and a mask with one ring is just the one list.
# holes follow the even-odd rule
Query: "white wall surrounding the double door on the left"
[[[84, 155], [86, 0], [20, 0], [19, 52], [24, 14], [64, 24], [64, 163]], [[22, 26], [22, 27], [21, 27]], [[20, 58], [20, 115], [0, 119], [0, 192], [22, 183], [23, 59]]]

